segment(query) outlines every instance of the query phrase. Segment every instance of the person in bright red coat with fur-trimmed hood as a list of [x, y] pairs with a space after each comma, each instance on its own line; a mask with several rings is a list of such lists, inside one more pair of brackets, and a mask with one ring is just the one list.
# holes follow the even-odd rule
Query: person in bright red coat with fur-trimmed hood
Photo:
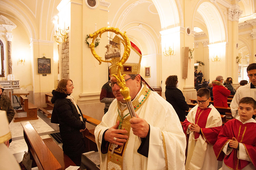
[[212, 94], [213, 94], [213, 105], [228, 107], [228, 96], [230, 95], [230, 91], [228, 88], [223, 86], [223, 77], [217, 76], [216, 80], [212, 81]]

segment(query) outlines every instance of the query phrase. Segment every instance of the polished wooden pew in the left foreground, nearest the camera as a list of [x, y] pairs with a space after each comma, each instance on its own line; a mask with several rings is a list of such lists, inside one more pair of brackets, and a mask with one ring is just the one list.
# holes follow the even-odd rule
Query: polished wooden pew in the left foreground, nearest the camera
[[51, 138], [42, 139], [30, 122], [22, 122], [21, 125], [33, 161], [32, 167], [37, 166], [39, 170], [65, 170], [70, 165], [76, 166]]

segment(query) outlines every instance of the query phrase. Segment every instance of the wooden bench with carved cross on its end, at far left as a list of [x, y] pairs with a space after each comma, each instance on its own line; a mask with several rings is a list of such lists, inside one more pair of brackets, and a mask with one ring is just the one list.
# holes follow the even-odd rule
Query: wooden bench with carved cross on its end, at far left
[[33, 104], [28, 102], [28, 98], [24, 95], [18, 96], [20, 97], [20, 105], [22, 107], [21, 110], [16, 110], [16, 112], [27, 112], [26, 117], [18, 117], [17, 114], [14, 116], [14, 122], [20, 122], [22, 120], [36, 120], [37, 117], [37, 107]]

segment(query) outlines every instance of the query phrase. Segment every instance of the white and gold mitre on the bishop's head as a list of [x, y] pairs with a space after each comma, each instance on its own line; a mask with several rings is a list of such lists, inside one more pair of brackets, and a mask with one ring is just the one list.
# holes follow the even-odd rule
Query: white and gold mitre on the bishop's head
[[[112, 54], [106, 55], [106, 59], [110, 59], [112, 61], [112, 65], [109, 66], [109, 72], [110, 75], [115, 74], [117, 75], [117, 63], [120, 60], [120, 54], [123, 54], [124, 52], [124, 45], [125, 41], [121, 39], [119, 36], [115, 36], [112, 41], [110, 41], [110, 44], [113, 46], [113, 48], [118, 48], [118, 50], [113, 50]], [[125, 63], [123, 63], [123, 69], [121, 70], [121, 75], [123, 74], [139, 74], [140, 68], [141, 68], [141, 51], [140, 49], [131, 42], [131, 52], [129, 55], [129, 58]]]

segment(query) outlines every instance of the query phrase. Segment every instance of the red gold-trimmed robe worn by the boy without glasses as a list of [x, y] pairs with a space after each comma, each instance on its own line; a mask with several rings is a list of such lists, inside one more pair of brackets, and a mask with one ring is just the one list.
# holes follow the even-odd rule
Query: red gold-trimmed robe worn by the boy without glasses
[[239, 160], [237, 150], [233, 149], [229, 155], [224, 154], [222, 149], [232, 137], [235, 137], [239, 143], [243, 143], [251, 162], [256, 167], [256, 123], [250, 122], [242, 124], [237, 119], [226, 122], [218, 135], [218, 140], [213, 146], [214, 153], [218, 161], [222, 161], [231, 169], [243, 169], [250, 162]]

